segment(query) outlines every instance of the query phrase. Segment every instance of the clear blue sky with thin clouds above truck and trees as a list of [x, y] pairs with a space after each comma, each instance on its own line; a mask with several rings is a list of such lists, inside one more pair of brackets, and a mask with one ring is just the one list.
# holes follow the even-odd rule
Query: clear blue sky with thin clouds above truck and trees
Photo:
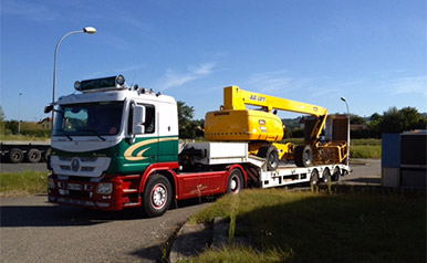
[[[48, 117], [76, 80], [123, 74], [194, 106], [196, 118], [238, 85], [361, 116], [427, 112], [425, 0], [1, 0], [1, 107]], [[281, 114], [295, 117], [296, 114]]]

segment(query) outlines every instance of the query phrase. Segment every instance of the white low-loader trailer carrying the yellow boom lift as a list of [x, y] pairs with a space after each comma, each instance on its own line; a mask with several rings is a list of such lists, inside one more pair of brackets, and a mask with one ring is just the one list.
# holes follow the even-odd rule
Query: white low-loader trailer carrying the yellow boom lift
[[186, 158], [190, 159], [187, 161], [189, 164], [186, 164], [188, 167], [212, 169], [216, 166], [239, 165], [244, 175], [246, 186], [260, 188], [337, 181], [341, 176], [351, 171], [350, 167], [343, 164], [298, 167], [294, 162], [289, 161], [281, 161], [277, 170], [270, 171], [267, 167], [268, 160], [248, 154], [247, 149], [248, 144], [246, 143], [195, 143], [188, 144], [181, 155], [186, 155], [186, 151], [192, 155]]

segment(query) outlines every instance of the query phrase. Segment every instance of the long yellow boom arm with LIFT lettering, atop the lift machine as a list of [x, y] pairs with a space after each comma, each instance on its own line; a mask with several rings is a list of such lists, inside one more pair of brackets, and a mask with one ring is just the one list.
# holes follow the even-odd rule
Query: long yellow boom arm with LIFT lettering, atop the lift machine
[[319, 138], [327, 117], [327, 109], [321, 106], [253, 92], [247, 92], [239, 88], [238, 86], [225, 87], [223, 109], [246, 109], [246, 105], [261, 106], [264, 107], [269, 113], [271, 113], [273, 109], [281, 109], [287, 112], [310, 114], [317, 117], [317, 122], [314, 125], [310, 136], [311, 140]]

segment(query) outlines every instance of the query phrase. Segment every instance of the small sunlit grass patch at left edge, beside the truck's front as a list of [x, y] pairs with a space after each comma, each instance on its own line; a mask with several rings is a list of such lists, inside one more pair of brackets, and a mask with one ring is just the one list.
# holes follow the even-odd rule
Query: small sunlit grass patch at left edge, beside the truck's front
[[0, 196], [46, 193], [48, 172], [24, 171], [0, 173]]

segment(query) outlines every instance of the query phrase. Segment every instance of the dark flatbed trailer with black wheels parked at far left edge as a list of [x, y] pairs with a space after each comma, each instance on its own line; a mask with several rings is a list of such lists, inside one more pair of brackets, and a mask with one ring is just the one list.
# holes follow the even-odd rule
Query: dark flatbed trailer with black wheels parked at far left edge
[[50, 141], [0, 141], [1, 160], [12, 164], [46, 161], [50, 149]]

